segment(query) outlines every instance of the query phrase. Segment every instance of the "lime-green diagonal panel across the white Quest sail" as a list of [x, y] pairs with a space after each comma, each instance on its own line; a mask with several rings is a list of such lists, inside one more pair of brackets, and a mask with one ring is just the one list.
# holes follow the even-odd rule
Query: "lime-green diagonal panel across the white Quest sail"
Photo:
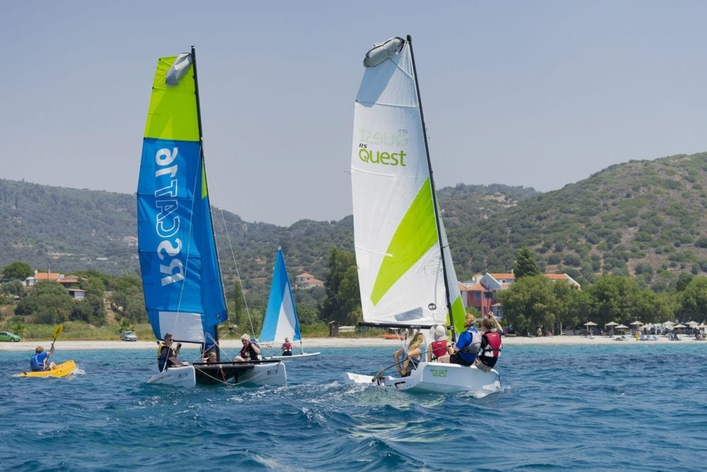
[[390, 257], [383, 258], [370, 294], [373, 304], [378, 304], [390, 287], [437, 241], [432, 190], [427, 179], [390, 240], [386, 251]]

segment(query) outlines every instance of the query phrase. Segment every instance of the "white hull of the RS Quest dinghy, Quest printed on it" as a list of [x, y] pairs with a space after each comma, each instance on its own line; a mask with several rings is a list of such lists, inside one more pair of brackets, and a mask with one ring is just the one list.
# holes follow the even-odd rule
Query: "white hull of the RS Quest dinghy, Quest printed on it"
[[345, 384], [368, 384], [392, 387], [397, 390], [432, 393], [455, 393], [468, 391], [477, 396], [486, 396], [501, 388], [501, 379], [496, 370], [483, 372], [476, 367], [440, 362], [421, 362], [409, 376], [399, 378], [344, 374]]

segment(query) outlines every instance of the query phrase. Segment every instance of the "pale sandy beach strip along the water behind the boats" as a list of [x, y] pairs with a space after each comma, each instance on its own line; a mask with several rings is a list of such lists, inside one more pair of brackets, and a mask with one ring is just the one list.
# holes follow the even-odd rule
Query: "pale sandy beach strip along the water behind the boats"
[[[706, 341], [697, 341], [694, 337], [683, 335], [679, 341], [672, 341], [667, 336], [658, 336], [655, 341], [637, 341], [636, 338], [626, 337], [626, 340], [618, 341], [617, 337], [610, 336], [549, 336], [543, 338], [526, 338], [524, 336], [503, 336], [503, 345], [506, 346], [541, 346], [541, 345], [653, 345], [671, 344], [681, 345], [684, 343], [703, 344]], [[37, 346], [44, 346], [49, 349], [52, 340], [20, 341], [19, 343], [0, 343], [0, 351], [33, 351]], [[262, 343], [263, 347], [278, 347], [275, 344]], [[320, 347], [400, 347], [400, 341], [383, 338], [305, 338], [302, 340], [305, 352], [312, 351]], [[62, 350], [100, 350], [100, 349], [154, 349], [156, 341], [91, 341], [91, 340], [57, 340], [56, 347]], [[185, 345], [185, 347], [190, 347]], [[223, 349], [240, 349], [240, 340], [222, 340]], [[299, 344], [293, 343], [293, 347], [298, 349]]]

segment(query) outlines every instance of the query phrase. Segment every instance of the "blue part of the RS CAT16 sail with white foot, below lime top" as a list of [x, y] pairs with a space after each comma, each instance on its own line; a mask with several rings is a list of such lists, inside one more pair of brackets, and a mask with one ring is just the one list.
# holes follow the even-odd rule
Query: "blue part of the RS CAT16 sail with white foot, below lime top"
[[227, 314], [199, 142], [144, 139], [137, 209], [145, 306], [155, 336], [213, 343]]

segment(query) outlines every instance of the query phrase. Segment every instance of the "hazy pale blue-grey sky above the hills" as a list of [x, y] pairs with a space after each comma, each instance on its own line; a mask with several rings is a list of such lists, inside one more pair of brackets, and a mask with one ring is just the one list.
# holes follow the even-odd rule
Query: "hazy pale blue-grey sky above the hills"
[[351, 214], [363, 57], [411, 35], [436, 186], [707, 150], [707, 2], [0, 0], [0, 178], [134, 193], [158, 57], [197, 48], [211, 204]]

